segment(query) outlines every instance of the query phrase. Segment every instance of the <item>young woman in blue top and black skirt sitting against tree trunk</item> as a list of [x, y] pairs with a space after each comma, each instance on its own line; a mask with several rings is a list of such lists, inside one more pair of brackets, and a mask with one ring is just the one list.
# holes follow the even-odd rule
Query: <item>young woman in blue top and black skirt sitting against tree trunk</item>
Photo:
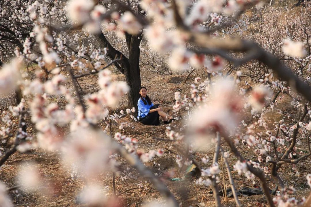
[[172, 122], [168, 119], [173, 119], [172, 116], [167, 115], [158, 104], [154, 105], [149, 96], [147, 96], [147, 89], [145, 87], [139, 88], [140, 99], [138, 99], [138, 120], [147, 125], [158, 125], [159, 118], [162, 117], [165, 124]]

